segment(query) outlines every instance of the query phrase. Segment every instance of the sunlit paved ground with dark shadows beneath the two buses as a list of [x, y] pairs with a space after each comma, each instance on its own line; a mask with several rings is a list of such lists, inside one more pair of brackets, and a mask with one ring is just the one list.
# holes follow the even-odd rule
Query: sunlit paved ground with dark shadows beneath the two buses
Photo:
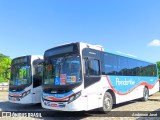
[[[25, 120], [25, 119], [145, 119], [149, 115], [150, 119], [159, 119], [160, 115], [160, 92], [158, 94], [151, 96], [147, 102], [142, 102], [140, 100], [134, 100], [130, 102], [125, 102], [122, 104], [115, 105], [113, 110], [109, 114], [99, 113], [97, 110], [87, 111], [87, 112], [57, 112], [52, 110], [46, 110], [41, 107], [41, 104], [34, 105], [21, 105], [10, 103], [7, 100], [7, 92], [0, 92], [0, 111], [12, 112], [14, 117], [2, 117], [0, 119], [4, 120]], [[150, 111], [154, 111], [150, 114]], [[16, 113], [17, 112], [17, 113]], [[14, 114], [13, 114], [14, 113]], [[31, 114], [35, 113], [35, 114]], [[28, 117], [29, 116], [29, 117]], [[110, 117], [108, 117], [110, 116]], [[143, 117], [140, 117], [143, 116]]]

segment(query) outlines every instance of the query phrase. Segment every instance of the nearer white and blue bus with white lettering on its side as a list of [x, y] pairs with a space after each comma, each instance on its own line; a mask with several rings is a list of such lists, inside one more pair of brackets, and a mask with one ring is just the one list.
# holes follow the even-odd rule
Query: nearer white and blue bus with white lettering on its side
[[155, 63], [81, 42], [44, 53], [41, 104], [46, 109], [107, 112], [113, 104], [146, 101], [158, 90]]

